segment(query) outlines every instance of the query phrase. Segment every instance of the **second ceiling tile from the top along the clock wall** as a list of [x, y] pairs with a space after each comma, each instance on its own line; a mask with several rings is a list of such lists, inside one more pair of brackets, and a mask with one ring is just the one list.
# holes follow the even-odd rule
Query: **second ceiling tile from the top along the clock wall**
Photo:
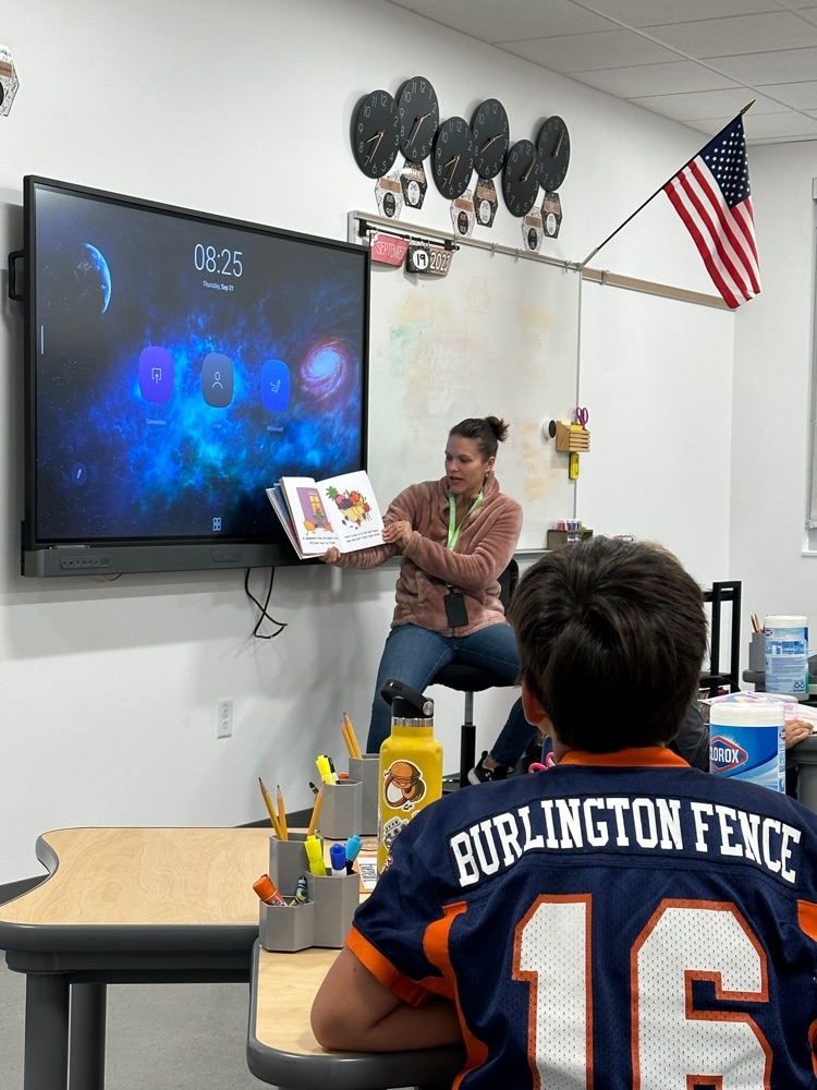
[[509, 39], [501, 45], [516, 57], [524, 57], [536, 64], [542, 64], [551, 72], [562, 74], [678, 59], [669, 49], [648, 41], [634, 31], [568, 34], [558, 38], [534, 38], [528, 41]]

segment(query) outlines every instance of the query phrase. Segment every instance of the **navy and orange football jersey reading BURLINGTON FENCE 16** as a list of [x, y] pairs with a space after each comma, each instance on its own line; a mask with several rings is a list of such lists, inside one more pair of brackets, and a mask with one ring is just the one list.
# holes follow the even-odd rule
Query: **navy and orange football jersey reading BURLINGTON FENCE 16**
[[668, 750], [428, 807], [347, 945], [456, 1004], [461, 1090], [817, 1087], [817, 815]]

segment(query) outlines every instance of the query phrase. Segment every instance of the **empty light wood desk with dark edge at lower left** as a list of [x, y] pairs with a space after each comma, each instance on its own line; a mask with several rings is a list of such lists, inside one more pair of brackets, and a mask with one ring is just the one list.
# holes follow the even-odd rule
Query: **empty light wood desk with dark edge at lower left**
[[105, 1081], [106, 984], [246, 981], [253, 882], [268, 828], [65, 828], [37, 840], [49, 871], [0, 906], [0, 949], [26, 973], [25, 1090]]

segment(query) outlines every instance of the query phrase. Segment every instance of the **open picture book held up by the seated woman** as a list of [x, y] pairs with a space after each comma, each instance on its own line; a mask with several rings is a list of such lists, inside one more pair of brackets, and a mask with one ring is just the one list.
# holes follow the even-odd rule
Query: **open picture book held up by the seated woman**
[[383, 520], [365, 470], [325, 481], [281, 477], [267, 496], [302, 560], [332, 546], [353, 553], [382, 545]]

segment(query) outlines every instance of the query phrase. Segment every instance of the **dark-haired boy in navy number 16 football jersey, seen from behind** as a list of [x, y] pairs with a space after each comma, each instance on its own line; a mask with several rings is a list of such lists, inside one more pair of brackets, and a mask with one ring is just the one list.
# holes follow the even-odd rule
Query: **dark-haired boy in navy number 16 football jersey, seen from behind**
[[667, 743], [706, 618], [667, 552], [558, 549], [511, 606], [557, 764], [426, 808], [313, 1007], [327, 1047], [462, 1041], [461, 1090], [817, 1087], [817, 816]]

